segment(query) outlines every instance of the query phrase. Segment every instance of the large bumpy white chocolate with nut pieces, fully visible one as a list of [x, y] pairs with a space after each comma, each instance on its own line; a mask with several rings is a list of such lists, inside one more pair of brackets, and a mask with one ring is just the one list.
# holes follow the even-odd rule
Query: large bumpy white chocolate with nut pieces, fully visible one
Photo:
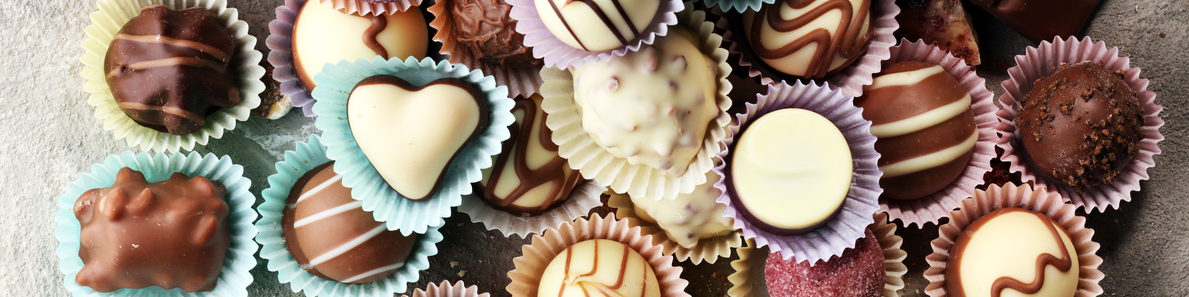
[[674, 26], [655, 46], [572, 70], [591, 139], [631, 165], [685, 173], [719, 113], [717, 63], [698, 44]]

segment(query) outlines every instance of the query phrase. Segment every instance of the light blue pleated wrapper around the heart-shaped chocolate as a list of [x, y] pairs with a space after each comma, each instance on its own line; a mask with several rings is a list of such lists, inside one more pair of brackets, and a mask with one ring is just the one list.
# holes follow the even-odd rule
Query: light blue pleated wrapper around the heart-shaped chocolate
[[[433, 197], [411, 201], [401, 196], [384, 182], [376, 166], [359, 148], [347, 121], [347, 99], [359, 81], [373, 75], [394, 75], [413, 86], [424, 86], [442, 77], [458, 77], [474, 83], [486, 96], [490, 121], [486, 131], [478, 135], [454, 157], [448, 165], [445, 178], [438, 185]], [[420, 62], [409, 57], [357, 59], [354, 63], [340, 61], [327, 63], [322, 71], [314, 76], [317, 88], [314, 89], [314, 125], [322, 129], [322, 144], [328, 148], [326, 156], [335, 160], [334, 172], [342, 176], [342, 185], [351, 188], [351, 196], [363, 197], [364, 210], [372, 211], [376, 221], [386, 222], [388, 229], [400, 229], [402, 234], [422, 233], [427, 227], [442, 226], [442, 217], [448, 217], [451, 207], [463, 204], [463, 195], [471, 194], [471, 183], [478, 182], [483, 173], [480, 169], [491, 166], [491, 156], [498, 154], [501, 141], [510, 135], [507, 127], [515, 121], [511, 108], [515, 105], [508, 99], [508, 88], [496, 86], [491, 76], [483, 71], [470, 70], [466, 65], [452, 65], [445, 61], [435, 63], [432, 58]]]

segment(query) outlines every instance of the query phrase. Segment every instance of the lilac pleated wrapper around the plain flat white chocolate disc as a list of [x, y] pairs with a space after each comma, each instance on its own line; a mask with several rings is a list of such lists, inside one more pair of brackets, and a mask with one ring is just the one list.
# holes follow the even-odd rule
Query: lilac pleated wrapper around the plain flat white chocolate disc
[[[744, 219], [735, 204], [731, 203], [730, 192], [726, 190], [726, 181], [730, 177], [724, 173], [731, 143], [740, 133], [740, 127], [747, 125], [749, 120], [763, 116], [770, 112], [785, 108], [801, 108], [825, 116], [838, 129], [850, 145], [850, 156], [854, 159], [854, 172], [851, 173], [850, 191], [847, 194], [842, 208], [833, 219], [813, 232], [801, 235], [775, 235], [759, 229]], [[825, 86], [797, 84], [788, 86], [780, 82], [776, 86], [768, 86], [768, 94], [760, 95], [756, 103], [747, 103], [747, 112], [738, 114], [738, 122], [731, 125], [732, 137], [723, 139], [728, 148], [718, 153], [725, 160], [715, 168], [715, 171], [724, 178], [715, 183], [715, 187], [723, 191], [718, 196], [718, 202], [726, 204], [725, 216], [735, 219], [735, 228], [743, 229], [743, 238], [755, 239], [757, 246], [768, 246], [773, 252], [780, 252], [786, 259], [795, 257], [797, 261], [809, 260], [811, 264], [817, 260], [830, 259], [832, 255], [841, 255], [847, 248], [855, 247], [855, 241], [863, 238], [863, 232], [868, 225], [874, 222], [872, 216], [880, 208], [879, 197], [883, 192], [880, 188], [880, 176], [883, 172], [876, 166], [880, 153], [875, 152], [875, 137], [872, 135], [872, 122], [863, 119], [862, 108], [855, 107], [854, 97], [843, 96], [839, 90], [831, 90]]]

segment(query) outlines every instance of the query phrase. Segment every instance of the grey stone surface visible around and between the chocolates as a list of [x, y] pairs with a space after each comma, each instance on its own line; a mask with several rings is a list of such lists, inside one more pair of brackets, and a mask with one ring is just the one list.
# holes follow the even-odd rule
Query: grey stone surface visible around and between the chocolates
[[[260, 38], [257, 48], [265, 50], [266, 24], [279, 1], [228, 1]], [[1187, 0], [1103, 0], [1084, 32], [1108, 46], [1119, 46], [1132, 65], [1144, 69], [1141, 77], [1151, 80], [1149, 89], [1158, 94], [1157, 102], [1164, 106], [1160, 116], [1166, 121], [1163, 153], [1156, 156], [1157, 166], [1149, 170], [1151, 181], [1144, 182], [1144, 190], [1133, 194], [1121, 209], [1087, 214], [1088, 227], [1096, 230], [1094, 240], [1102, 244], [1099, 255], [1105, 259], [1105, 296], [1189, 296], [1189, 203], [1184, 201], [1189, 182], [1183, 179], [1189, 173], [1187, 10]], [[90, 171], [90, 164], [109, 153], [139, 151], [102, 129], [81, 89], [77, 58], [83, 51], [78, 43], [93, 11], [95, 2], [89, 0], [0, 1], [0, 226], [7, 229], [0, 234], [0, 296], [69, 296], [55, 255], [55, 201], [67, 183]], [[1028, 43], [983, 13], [976, 11], [975, 19], [980, 21], [984, 61], [979, 72], [988, 88], [1002, 94], [999, 83], [1014, 65], [1012, 56], [1021, 55]], [[297, 113], [279, 120], [253, 118], [196, 151], [229, 154], [245, 166], [245, 176], [253, 181], [251, 191], [258, 195], [273, 173], [272, 164], [310, 133], [320, 132]], [[486, 232], [465, 214], [449, 217], [442, 232], [441, 253], [430, 258], [433, 266], [409, 285], [410, 290], [429, 282], [461, 279], [492, 296], [508, 296], [503, 290], [509, 282], [505, 272], [528, 240]], [[924, 296], [927, 282], [920, 274], [929, 266], [924, 257], [937, 227], [901, 229], [899, 234], [908, 251], [904, 295]], [[451, 261], [459, 265], [451, 267]], [[300, 295], [279, 284], [264, 263], [252, 271], [256, 283], [249, 287], [251, 296]], [[681, 266], [687, 268], [682, 277], [691, 280], [690, 293], [725, 296], [725, 276], [731, 272], [726, 260]], [[463, 270], [466, 274], [459, 276]]]

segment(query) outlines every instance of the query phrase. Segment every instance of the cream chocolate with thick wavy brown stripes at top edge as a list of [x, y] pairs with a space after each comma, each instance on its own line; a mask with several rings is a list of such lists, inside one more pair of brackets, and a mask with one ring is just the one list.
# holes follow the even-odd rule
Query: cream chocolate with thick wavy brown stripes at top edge
[[867, 51], [868, 0], [779, 0], [743, 13], [751, 50], [787, 75], [820, 78]]

